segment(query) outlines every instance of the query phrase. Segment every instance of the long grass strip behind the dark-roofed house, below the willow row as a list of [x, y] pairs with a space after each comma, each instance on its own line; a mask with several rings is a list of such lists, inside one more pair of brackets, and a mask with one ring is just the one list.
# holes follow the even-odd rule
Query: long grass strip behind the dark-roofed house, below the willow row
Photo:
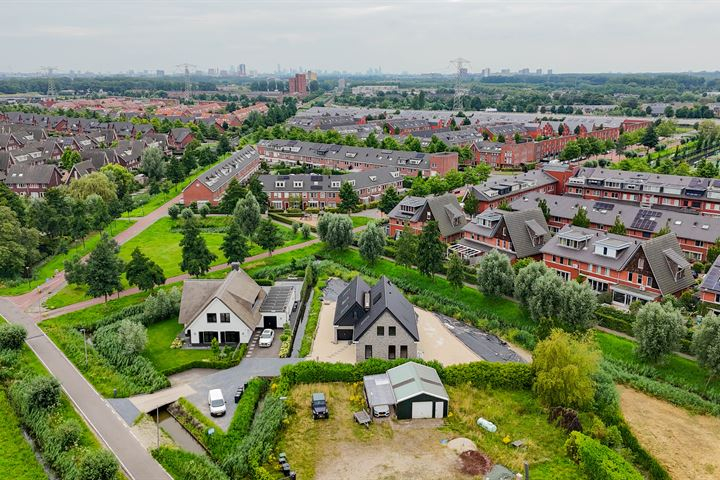
[[358, 251], [354, 249], [344, 251], [324, 250], [322, 256], [353, 270], [366, 270], [375, 277], [385, 275], [391, 280], [397, 279], [405, 283], [411, 283], [420, 290], [427, 290], [452, 299], [481, 315], [496, 315], [513, 327], [534, 326], [520, 306], [511, 300], [486, 297], [477, 289], [469, 287], [463, 287], [462, 290], [458, 291], [444, 278], [435, 277], [432, 279], [422, 275], [415, 269], [397, 265], [390, 260], [379, 259], [374, 265], [368, 265], [360, 257]]

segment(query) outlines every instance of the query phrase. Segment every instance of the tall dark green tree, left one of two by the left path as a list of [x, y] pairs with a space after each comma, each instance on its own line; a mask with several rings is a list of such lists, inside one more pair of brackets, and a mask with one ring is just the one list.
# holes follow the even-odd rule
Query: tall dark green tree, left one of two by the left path
[[88, 293], [93, 297], [105, 297], [122, 290], [120, 277], [124, 270], [123, 261], [118, 258], [119, 247], [107, 233], [100, 236], [95, 249], [85, 264], [85, 283]]

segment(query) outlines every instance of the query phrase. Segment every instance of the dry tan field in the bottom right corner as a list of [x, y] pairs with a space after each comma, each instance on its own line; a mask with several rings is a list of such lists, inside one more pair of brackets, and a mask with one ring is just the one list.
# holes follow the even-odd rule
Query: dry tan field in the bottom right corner
[[720, 478], [720, 418], [618, 386], [620, 406], [640, 443], [677, 480]]

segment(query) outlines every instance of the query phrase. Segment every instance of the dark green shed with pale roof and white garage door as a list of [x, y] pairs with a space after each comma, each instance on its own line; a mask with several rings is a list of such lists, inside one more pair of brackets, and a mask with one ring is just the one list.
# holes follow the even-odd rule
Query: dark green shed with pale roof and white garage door
[[434, 368], [407, 362], [387, 371], [398, 419], [445, 418], [450, 397]]

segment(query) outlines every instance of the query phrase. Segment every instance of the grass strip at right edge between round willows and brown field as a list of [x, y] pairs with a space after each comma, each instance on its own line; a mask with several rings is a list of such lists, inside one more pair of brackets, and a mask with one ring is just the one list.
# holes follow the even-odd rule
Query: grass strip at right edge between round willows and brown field
[[[644, 376], [680, 387], [688, 385], [699, 392], [704, 392], [708, 385], [707, 370], [693, 360], [671, 354], [661, 363], [650, 365], [635, 355], [635, 342], [603, 332], [596, 332], [595, 338], [606, 358], [640, 366], [644, 369]], [[711, 381], [707, 392], [720, 395], [720, 379]]]

